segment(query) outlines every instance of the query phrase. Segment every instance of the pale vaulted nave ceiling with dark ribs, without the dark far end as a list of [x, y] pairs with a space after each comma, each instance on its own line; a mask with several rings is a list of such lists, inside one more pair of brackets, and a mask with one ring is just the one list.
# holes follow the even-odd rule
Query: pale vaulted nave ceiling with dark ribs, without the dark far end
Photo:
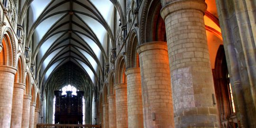
[[98, 83], [104, 64], [109, 62], [110, 42], [114, 40], [113, 3], [110, 0], [24, 1], [21, 6], [29, 5], [26, 45], [32, 50], [31, 63], [36, 64], [39, 84], [44, 86], [68, 62], [78, 66], [92, 83]]

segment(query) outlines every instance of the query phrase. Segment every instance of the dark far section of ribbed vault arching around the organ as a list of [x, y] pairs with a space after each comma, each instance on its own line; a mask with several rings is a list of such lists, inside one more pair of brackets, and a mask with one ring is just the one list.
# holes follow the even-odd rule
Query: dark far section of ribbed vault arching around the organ
[[[87, 103], [86, 107], [91, 107], [90, 103], [92, 102], [94, 86], [89, 76], [85, 72], [81, 71], [82, 69], [78, 65], [69, 61], [55, 70], [55, 72], [53, 72], [50, 78], [46, 81], [46, 85], [43, 88], [43, 94], [45, 94], [46, 97], [47, 123], [52, 123], [53, 120], [53, 92], [55, 90], [60, 90], [66, 85], [72, 85], [77, 89], [84, 91], [84, 98]], [[88, 109], [86, 113], [91, 113], [91, 110]]]

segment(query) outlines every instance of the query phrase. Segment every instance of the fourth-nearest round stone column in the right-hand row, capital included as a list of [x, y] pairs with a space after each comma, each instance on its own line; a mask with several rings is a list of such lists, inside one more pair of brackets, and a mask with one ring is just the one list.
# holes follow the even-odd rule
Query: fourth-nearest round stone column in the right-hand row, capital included
[[128, 128], [127, 85], [115, 84], [117, 128]]

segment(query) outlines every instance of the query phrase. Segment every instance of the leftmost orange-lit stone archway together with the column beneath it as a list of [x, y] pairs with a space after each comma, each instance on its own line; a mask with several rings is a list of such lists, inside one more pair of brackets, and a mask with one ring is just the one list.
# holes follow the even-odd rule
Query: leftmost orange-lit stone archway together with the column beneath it
[[11, 122], [12, 98], [14, 78], [17, 69], [16, 50], [12, 33], [6, 31], [1, 39], [2, 49], [0, 51], [0, 127], [9, 128]]

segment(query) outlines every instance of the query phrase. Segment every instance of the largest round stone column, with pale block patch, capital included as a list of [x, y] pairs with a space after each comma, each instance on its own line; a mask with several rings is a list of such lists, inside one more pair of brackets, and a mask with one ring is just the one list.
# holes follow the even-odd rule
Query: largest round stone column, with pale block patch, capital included
[[175, 128], [217, 128], [204, 0], [162, 0], [173, 88]]

